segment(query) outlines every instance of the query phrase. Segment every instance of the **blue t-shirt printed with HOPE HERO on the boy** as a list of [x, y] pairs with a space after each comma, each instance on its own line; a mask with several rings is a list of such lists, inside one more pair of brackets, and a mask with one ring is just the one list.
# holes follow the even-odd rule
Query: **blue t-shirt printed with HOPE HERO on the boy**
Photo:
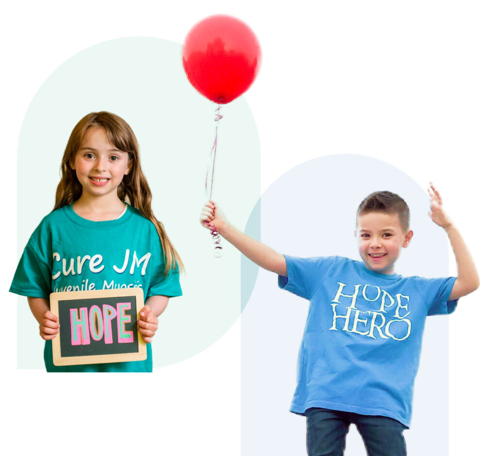
[[311, 302], [291, 411], [329, 408], [410, 426], [425, 318], [455, 309], [455, 277], [381, 274], [338, 256], [285, 260], [278, 286]]

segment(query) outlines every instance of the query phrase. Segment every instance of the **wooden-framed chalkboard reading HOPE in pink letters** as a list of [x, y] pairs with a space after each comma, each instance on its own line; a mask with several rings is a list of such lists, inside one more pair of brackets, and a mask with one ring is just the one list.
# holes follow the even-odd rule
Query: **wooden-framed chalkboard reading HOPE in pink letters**
[[51, 312], [60, 324], [52, 339], [55, 366], [147, 358], [147, 346], [137, 330], [141, 288], [67, 291], [50, 297]]

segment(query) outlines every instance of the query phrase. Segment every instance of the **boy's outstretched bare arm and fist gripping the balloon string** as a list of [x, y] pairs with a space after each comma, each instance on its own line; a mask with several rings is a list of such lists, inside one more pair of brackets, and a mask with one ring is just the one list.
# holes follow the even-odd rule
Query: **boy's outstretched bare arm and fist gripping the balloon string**
[[263, 269], [287, 276], [287, 263], [284, 256], [236, 229], [226, 220], [223, 211], [216, 203], [212, 201], [206, 203], [199, 220], [205, 228], [216, 227], [221, 236]]

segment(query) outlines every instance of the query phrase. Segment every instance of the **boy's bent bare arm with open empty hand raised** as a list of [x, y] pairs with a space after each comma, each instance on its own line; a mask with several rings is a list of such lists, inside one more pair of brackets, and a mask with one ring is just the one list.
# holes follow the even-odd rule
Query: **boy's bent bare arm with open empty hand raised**
[[427, 189], [430, 196], [430, 212], [432, 220], [449, 236], [457, 265], [457, 280], [452, 287], [449, 300], [459, 299], [479, 287], [479, 274], [464, 239], [460, 235], [452, 220], [442, 208], [442, 198], [432, 182]]

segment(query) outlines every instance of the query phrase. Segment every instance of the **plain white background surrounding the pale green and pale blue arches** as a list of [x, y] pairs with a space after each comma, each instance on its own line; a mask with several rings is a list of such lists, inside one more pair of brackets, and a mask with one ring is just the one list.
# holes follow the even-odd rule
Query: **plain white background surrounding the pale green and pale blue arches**
[[[215, 13], [243, 19], [263, 51], [260, 74], [246, 94], [260, 135], [262, 192], [288, 169], [324, 154], [381, 159], [424, 187], [434, 180], [482, 275], [482, 2], [9, 3], [2, 7], [0, 28], [4, 347], [7, 340], [16, 340], [17, 327], [16, 298], [6, 292], [17, 264], [17, 140], [36, 90], [55, 68], [88, 46], [124, 36], [182, 43], [195, 22]], [[93, 71], [113, 71], [116, 77], [113, 68]], [[370, 180], [377, 177], [369, 174]], [[42, 185], [42, 176], [33, 190], [35, 185]], [[208, 284], [205, 292], [210, 289]], [[452, 456], [478, 454], [483, 447], [484, 300], [480, 289], [461, 299], [450, 318]], [[77, 437], [94, 431], [85, 423], [99, 420], [98, 432], [105, 437], [95, 436], [91, 454], [108, 449], [106, 436], [112, 436], [123, 440], [127, 452], [238, 455], [239, 353], [237, 323], [202, 354], [157, 370], [134, 388], [142, 377], [17, 371], [12, 342], [4, 349], [2, 440], [18, 451], [54, 455], [75, 444], [70, 453], [78, 454], [83, 441]], [[93, 398], [99, 408], [87, 409]], [[122, 413], [139, 419], [132, 435], [120, 426]]]

